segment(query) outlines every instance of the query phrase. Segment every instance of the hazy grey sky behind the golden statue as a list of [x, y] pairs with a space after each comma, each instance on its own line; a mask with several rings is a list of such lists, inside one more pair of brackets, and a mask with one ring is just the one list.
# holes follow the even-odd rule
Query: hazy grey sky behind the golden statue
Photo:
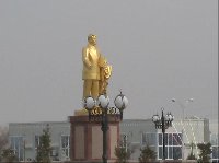
[[113, 65], [124, 118], [160, 108], [218, 116], [217, 0], [0, 0], [0, 125], [66, 120], [81, 108], [88, 34]]

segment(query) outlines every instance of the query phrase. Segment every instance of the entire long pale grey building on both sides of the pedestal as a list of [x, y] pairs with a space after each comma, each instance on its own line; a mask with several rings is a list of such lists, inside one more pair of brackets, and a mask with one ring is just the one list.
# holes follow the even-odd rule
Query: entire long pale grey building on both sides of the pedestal
[[[51, 137], [50, 153], [54, 161], [68, 161], [70, 158], [70, 124], [68, 121], [25, 123], [9, 125], [9, 140], [11, 148], [20, 161], [35, 160], [39, 136], [43, 129], [49, 127]], [[151, 119], [124, 119], [120, 125], [120, 142], [118, 145], [131, 151], [130, 159], [138, 160], [140, 149], [149, 145], [157, 152], [157, 159], [162, 159], [162, 132], [155, 129]], [[165, 155], [168, 160], [186, 160], [191, 153], [198, 156], [197, 143], [215, 142], [212, 145], [212, 161], [218, 161], [218, 135], [211, 135], [209, 120], [198, 117], [175, 119], [172, 127], [166, 129]]]

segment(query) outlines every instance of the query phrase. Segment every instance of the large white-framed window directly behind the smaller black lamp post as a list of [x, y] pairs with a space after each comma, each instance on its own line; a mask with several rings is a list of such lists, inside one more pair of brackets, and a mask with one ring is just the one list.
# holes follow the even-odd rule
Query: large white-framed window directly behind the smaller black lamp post
[[[163, 135], [159, 133], [159, 159], [163, 158]], [[165, 133], [165, 158], [169, 160], [182, 159], [182, 133]]]

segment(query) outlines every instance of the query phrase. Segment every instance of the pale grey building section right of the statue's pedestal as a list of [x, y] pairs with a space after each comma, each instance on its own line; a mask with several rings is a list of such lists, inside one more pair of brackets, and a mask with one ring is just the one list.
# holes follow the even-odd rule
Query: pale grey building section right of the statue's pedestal
[[[140, 149], [149, 145], [157, 152], [158, 160], [162, 159], [163, 135], [161, 129], [155, 129], [151, 119], [126, 119], [120, 124], [120, 135], [124, 147], [132, 152], [131, 159], [137, 160]], [[210, 142], [209, 120], [198, 117], [175, 119], [172, 127], [165, 130], [165, 158], [166, 160], [186, 160], [191, 153], [192, 143], [194, 154], [198, 156], [197, 143]]]

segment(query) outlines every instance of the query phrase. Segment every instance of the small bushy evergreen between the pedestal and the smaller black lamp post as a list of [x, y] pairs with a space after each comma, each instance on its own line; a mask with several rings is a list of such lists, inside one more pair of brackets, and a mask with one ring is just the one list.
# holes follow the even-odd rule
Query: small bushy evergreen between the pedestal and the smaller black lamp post
[[146, 145], [140, 151], [141, 151], [141, 154], [138, 159], [140, 163], [147, 163], [150, 161], [154, 161], [157, 158], [157, 152], [154, 152], [149, 145]]

